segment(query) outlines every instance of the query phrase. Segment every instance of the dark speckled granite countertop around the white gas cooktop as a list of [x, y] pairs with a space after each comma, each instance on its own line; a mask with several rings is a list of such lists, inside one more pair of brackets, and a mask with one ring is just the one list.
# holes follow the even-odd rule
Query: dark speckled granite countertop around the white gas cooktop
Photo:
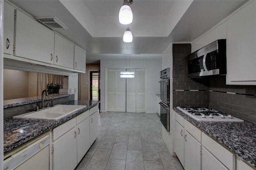
[[244, 122], [196, 121], [176, 107], [174, 111], [214, 138], [231, 152], [256, 167], [256, 124]]

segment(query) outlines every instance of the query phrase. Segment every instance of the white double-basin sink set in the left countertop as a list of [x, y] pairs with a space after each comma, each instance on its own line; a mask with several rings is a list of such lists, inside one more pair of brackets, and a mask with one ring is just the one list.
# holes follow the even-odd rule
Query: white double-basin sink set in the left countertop
[[50, 119], [58, 120], [72, 112], [75, 112], [79, 109], [82, 109], [86, 106], [79, 105], [56, 105], [47, 109], [40, 111], [34, 111], [25, 113], [22, 115], [14, 116], [14, 118], [23, 118], [23, 119]]

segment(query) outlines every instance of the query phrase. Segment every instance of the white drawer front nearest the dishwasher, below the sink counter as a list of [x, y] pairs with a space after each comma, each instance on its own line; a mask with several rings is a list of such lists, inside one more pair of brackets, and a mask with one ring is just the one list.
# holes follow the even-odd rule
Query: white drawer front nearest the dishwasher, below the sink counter
[[76, 118], [70, 119], [69, 121], [61, 124], [60, 126], [54, 128], [52, 130], [52, 140], [56, 140], [64, 133], [68, 132], [68, 130], [72, 129], [76, 126]]

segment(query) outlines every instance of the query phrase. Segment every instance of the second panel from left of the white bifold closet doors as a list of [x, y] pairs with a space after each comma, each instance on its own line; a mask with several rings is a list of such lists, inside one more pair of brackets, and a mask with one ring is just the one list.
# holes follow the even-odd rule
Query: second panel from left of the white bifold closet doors
[[126, 78], [120, 78], [120, 72], [125, 69], [116, 69], [116, 111], [126, 111]]

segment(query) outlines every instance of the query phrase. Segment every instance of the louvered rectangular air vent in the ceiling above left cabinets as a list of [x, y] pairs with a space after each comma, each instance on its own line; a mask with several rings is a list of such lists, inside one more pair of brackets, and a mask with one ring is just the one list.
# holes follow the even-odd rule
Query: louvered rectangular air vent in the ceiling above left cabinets
[[58, 18], [53, 17], [34, 17], [36, 20], [52, 30], [69, 30]]

